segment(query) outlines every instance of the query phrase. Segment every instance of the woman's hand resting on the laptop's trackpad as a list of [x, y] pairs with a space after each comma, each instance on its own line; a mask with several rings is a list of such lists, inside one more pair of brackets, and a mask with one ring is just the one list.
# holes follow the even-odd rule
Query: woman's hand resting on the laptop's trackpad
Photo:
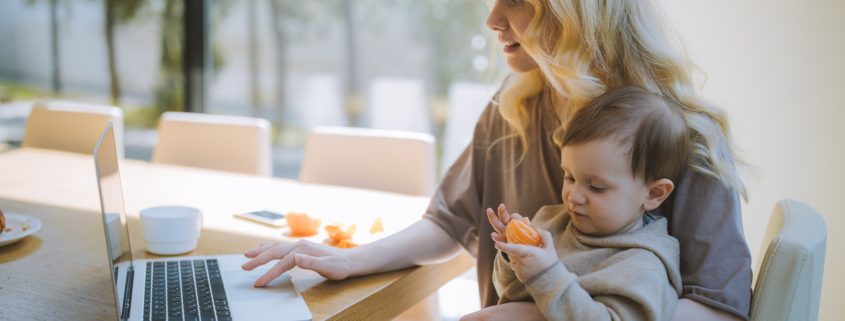
[[252, 260], [244, 263], [241, 268], [251, 271], [272, 260], [279, 260], [255, 281], [256, 287], [266, 286], [294, 266], [312, 270], [330, 280], [342, 280], [352, 273], [350, 260], [346, 255], [348, 251], [304, 240], [296, 243], [264, 243], [244, 252], [244, 255]]

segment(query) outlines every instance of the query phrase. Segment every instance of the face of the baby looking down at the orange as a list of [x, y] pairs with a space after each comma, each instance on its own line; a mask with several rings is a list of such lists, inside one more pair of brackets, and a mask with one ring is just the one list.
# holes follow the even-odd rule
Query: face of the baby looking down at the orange
[[563, 147], [563, 203], [582, 233], [616, 233], [647, 209], [649, 187], [634, 177], [626, 152], [614, 139]]

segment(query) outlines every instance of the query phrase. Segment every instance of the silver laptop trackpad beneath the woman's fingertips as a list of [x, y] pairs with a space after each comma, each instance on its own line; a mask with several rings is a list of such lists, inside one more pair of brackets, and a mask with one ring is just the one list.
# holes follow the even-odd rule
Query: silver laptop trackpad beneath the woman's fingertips
[[290, 281], [290, 274], [282, 276], [270, 282], [266, 287], [256, 288], [252, 286], [267, 270], [252, 271], [223, 271], [223, 280], [226, 283], [226, 293], [232, 302], [255, 301], [255, 300], [290, 300], [298, 297]]

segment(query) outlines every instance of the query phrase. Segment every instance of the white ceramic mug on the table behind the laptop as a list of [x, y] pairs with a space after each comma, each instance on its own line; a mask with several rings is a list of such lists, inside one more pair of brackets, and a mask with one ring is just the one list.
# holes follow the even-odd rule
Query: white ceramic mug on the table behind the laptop
[[182, 254], [197, 247], [202, 212], [187, 206], [156, 206], [141, 210], [141, 232], [147, 252]]

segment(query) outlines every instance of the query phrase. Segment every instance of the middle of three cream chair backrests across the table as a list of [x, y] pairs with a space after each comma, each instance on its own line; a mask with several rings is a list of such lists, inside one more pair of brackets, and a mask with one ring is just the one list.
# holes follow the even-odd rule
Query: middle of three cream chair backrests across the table
[[261, 118], [166, 112], [152, 161], [273, 175], [270, 122]]

